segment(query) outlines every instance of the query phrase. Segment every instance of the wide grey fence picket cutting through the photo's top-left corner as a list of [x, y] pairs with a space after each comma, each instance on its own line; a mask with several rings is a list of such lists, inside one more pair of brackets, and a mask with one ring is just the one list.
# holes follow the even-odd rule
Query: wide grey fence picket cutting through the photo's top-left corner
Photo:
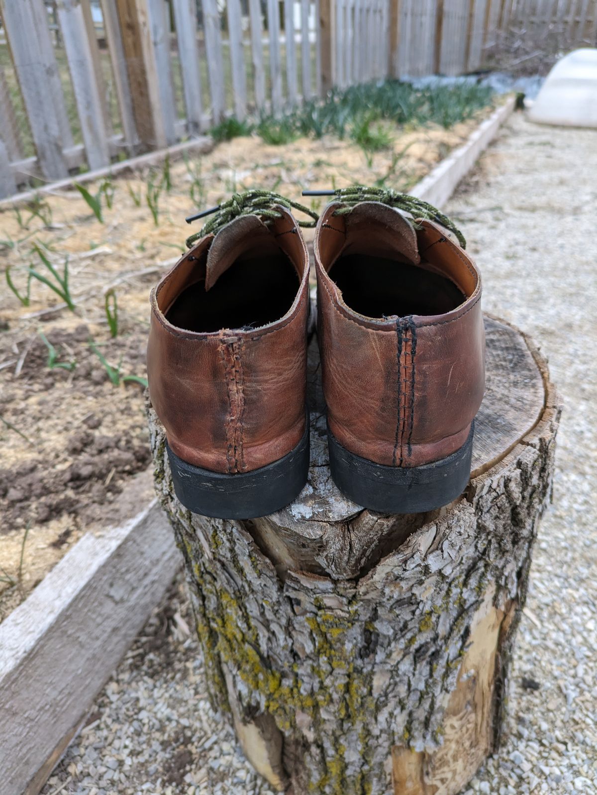
[[63, 179], [68, 174], [62, 155], [63, 138], [44, 53], [36, 47], [37, 28], [31, 3], [0, 0], [0, 11], [41, 171], [50, 180]]

